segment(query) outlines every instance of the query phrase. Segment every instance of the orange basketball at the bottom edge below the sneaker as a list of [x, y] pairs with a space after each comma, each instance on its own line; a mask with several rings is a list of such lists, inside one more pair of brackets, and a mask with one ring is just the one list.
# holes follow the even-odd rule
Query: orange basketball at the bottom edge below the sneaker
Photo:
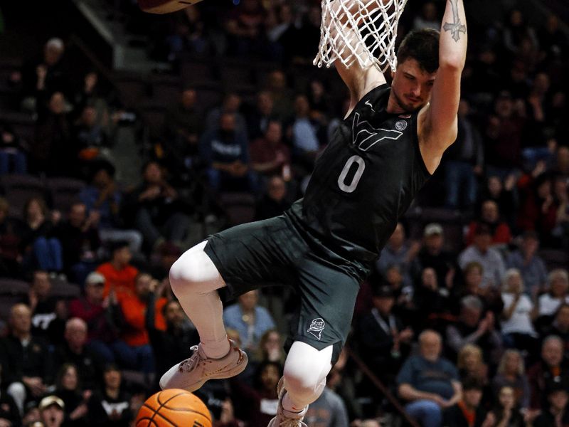
[[189, 391], [168, 389], [150, 396], [138, 411], [136, 427], [211, 427], [203, 401]]

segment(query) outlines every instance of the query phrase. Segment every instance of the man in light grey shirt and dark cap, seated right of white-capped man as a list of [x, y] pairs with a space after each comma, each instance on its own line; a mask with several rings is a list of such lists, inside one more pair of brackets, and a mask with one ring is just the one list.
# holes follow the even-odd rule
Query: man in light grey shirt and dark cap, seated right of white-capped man
[[492, 234], [489, 226], [479, 223], [474, 230], [474, 241], [458, 257], [460, 268], [464, 270], [468, 263], [476, 261], [483, 268], [482, 287], [498, 286], [506, 268], [501, 254], [491, 248]]

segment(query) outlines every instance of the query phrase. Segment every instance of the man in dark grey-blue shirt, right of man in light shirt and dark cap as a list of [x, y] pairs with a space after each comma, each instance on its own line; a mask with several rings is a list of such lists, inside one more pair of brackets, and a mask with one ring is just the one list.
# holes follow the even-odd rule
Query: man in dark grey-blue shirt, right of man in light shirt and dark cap
[[537, 295], [546, 284], [546, 265], [537, 255], [539, 238], [535, 231], [523, 233], [521, 244], [516, 251], [511, 252], [506, 260], [508, 268], [517, 268], [523, 277], [526, 287], [523, 290], [528, 295]]

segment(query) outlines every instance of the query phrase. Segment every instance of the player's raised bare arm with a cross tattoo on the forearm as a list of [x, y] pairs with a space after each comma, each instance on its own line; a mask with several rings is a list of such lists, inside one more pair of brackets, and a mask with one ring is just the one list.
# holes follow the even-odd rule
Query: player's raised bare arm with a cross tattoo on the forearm
[[439, 42], [439, 69], [430, 104], [419, 115], [419, 142], [429, 172], [457, 139], [460, 76], [467, 54], [467, 26], [462, 0], [447, 0]]

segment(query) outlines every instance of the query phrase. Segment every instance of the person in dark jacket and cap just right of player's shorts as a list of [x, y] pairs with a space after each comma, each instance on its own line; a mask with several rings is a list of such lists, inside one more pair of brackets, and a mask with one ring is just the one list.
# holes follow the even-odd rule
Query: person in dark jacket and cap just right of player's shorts
[[374, 288], [372, 301], [371, 312], [362, 317], [357, 329], [358, 343], [363, 362], [385, 384], [391, 384], [410, 352], [413, 330], [393, 313], [395, 295], [389, 286]]

